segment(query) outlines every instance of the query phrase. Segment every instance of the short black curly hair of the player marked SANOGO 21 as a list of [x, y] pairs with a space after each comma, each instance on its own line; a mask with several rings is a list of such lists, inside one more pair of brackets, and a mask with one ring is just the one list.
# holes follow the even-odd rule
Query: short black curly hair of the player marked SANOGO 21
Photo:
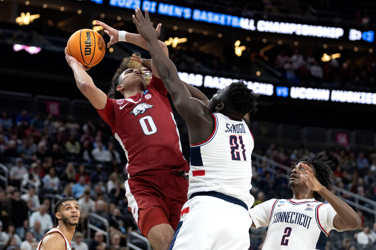
[[256, 113], [258, 111], [256, 100], [260, 95], [249, 89], [243, 80], [230, 84], [226, 92], [226, 100], [228, 101], [226, 104], [232, 110], [244, 115], [248, 112]]

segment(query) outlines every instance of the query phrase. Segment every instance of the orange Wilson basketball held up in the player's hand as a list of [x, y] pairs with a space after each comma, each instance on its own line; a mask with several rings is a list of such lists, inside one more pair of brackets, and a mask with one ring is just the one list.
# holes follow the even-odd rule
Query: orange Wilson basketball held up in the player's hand
[[84, 28], [74, 32], [67, 43], [68, 54], [85, 67], [97, 65], [105, 55], [105, 41], [95, 30]]

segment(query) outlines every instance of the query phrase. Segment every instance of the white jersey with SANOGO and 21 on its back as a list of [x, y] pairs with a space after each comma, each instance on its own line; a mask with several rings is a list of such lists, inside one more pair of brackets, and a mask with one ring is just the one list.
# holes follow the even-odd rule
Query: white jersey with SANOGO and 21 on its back
[[193, 193], [215, 191], [252, 207], [251, 154], [253, 136], [244, 120], [212, 114], [212, 135], [202, 143], [191, 144], [188, 199]]

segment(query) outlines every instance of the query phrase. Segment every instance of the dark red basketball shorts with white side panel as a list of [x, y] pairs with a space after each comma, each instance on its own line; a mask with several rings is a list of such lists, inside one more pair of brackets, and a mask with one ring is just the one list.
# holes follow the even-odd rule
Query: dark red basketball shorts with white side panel
[[149, 171], [127, 180], [125, 188], [128, 209], [145, 237], [153, 226], [162, 223], [176, 229], [187, 201], [186, 178], [174, 171]]

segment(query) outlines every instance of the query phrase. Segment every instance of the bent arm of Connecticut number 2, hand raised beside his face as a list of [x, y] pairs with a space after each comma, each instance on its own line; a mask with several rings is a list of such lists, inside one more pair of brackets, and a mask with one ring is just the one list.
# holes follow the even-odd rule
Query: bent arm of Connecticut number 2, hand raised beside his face
[[309, 189], [319, 193], [337, 212], [337, 215], [333, 219], [333, 226], [339, 230], [355, 230], [362, 224], [358, 214], [343, 202], [340, 198], [333, 195], [315, 178], [313, 171], [306, 164], [301, 164], [305, 169], [306, 175], [300, 175], [300, 178], [307, 184]]

